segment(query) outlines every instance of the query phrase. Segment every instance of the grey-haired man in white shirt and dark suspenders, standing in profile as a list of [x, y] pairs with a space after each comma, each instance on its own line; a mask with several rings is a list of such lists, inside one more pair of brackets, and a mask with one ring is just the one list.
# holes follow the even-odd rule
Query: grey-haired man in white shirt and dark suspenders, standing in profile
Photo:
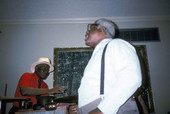
[[[111, 20], [99, 19], [88, 25], [85, 44], [94, 51], [78, 89], [78, 107], [71, 106], [70, 114], [139, 114], [133, 94], [141, 86], [140, 62], [135, 48], [114, 36]], [[105, 72], [101, 78], [104, 48]]]

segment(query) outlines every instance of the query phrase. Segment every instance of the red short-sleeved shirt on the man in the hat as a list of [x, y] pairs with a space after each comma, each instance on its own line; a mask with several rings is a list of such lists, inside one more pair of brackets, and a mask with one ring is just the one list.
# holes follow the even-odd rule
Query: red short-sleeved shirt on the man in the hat
[[[30, 102], [32, 102], [32, 105], [36, 104], [36, 96], [22, 96], [20, 92], [21, 87], [38, 88], [38, 76], [35, 73], [24, 73], [21, 76], [17, 85], [17, 89], [15, 91], [15, 97], [30, 98]], [[48, 85], [43, 81], [40, 88], [48, 89]], [[14, 106], [19, 107], [19, 103], [14, 102]]]

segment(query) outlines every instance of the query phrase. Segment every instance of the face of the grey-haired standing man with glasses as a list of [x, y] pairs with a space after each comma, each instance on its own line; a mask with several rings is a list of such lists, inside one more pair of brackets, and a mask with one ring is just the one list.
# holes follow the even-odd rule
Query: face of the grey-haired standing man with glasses
[[88, 25], [85, 35], [85, 44], [90, 47], [95, 47], [101, 41], [101, 30], [97, 28], [97, 24]]

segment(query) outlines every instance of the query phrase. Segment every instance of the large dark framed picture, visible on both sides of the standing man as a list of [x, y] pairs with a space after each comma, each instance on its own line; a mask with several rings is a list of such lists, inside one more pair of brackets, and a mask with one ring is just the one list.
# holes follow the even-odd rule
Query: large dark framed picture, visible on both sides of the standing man
[[[135, 45], [142, 69], [142, 86], [136, 92], [140, 94], [150, 113], [155, 112], [149, 74], [146, 45]], [[54, 48], [54, 86], [60, 85], [67, 89], [57, 98], [78, 95], [78, 88], [85, 66], [93, 49], [89, 47]]]

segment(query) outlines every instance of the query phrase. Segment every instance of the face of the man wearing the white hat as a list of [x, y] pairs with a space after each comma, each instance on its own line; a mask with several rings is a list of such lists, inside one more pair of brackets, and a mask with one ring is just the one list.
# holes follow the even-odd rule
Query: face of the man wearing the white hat
[[39, 64], [35, 67], [35, 73], [40, 79], [46, 79], [49, 75], [50, 66], [47, 64]]

